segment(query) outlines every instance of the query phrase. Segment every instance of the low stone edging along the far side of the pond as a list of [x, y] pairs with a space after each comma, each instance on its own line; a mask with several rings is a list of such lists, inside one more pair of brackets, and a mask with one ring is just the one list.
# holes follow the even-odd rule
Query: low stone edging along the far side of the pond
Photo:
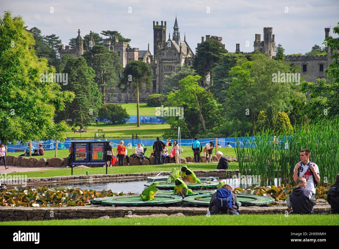
[[[64, 183], [81, 183], [81, 182], [109, 182], [116, 180], [143, 180], [148, 176], [156, 176], [159, 172], [130, 173], [130, 174], [97, 174], [97, 175], [73, 175], [73, 176], [53, 176], [53, 177], [31, 177], [27, 178], [26, 185], [48, 185]], [[239, 170], [195, 170], [197, 177], [214, 176], [220, 179], [232, 178], [234, 174], [238, 175]], [[24, 174], [21, 172], [20, 174]], [[8, 184], [8, 188], [14, 187], [15, 184]]]

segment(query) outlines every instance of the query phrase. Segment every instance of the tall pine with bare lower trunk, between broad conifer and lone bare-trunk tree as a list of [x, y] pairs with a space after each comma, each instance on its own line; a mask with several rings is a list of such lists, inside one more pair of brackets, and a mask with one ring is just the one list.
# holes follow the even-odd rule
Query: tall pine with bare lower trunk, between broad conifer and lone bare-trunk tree
[[115, 51], [108, 50], [102, 45], [95, 45], [83, 54], [88, 66], [95, 71], [95, 82], [101, 89], [102, 102], [106, 103], [106, 90], [113, 88], [118, 83], [118, 75], [122, 66], [120, 58]]

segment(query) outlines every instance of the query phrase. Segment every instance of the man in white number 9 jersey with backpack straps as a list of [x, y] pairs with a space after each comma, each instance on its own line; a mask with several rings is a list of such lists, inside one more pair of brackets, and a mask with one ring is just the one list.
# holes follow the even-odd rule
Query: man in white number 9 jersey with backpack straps
[[309, 190], [310, 198], [315, 200], [316, 185], [320, 181], [320, 176], [318, 165], [310, 161], [310, 155], [310, 150], [301, 150], [301, 162], [298, 162], [294, 167], [293, 180], [296, 181], [298, 177], [304, 177], [307, 183], [305, 190]]

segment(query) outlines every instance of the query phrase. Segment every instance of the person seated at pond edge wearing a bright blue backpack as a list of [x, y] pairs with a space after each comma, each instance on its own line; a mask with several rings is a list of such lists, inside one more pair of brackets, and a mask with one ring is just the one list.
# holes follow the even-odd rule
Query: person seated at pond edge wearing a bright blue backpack
[[208, 210], [211, 214], [237, 214], [239, 215], [239, 206], [237, 195], [234, 194], [230, 185], [223, 185], [212, 195]]

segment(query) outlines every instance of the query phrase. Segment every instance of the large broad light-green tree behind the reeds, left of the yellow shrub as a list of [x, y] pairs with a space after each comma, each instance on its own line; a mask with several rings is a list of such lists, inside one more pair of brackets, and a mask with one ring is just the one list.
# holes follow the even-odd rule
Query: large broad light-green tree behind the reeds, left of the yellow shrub
[[227, 117], [252, 122], [254, 132], [255, 121], [261, 110], [268, 105], [276, 111], [289, 111], [292, 92], [291, 82], [283, 78], [274, 79], [274, 74], [291, 73], [289, 65], [279, 60], [272, 60], [266, 55], [255, 54], [251, 61], [242, 59], [230, 70], [233, 77], [225, 102]]

